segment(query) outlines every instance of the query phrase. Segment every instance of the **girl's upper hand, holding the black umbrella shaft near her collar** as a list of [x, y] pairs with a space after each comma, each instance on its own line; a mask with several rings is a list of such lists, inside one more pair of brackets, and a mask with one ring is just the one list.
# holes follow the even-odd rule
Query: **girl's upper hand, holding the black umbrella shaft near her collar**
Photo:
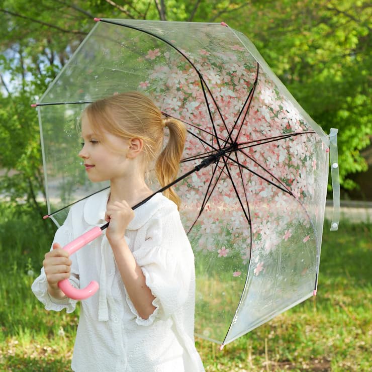
[[105, 220], [110, 222], [110, 225], [107, 228], [106, 236], [111, 247], [124, 239], [125, 230], [133, 218], [134, 212], [125, 200], [115, 202], [107, 207]]

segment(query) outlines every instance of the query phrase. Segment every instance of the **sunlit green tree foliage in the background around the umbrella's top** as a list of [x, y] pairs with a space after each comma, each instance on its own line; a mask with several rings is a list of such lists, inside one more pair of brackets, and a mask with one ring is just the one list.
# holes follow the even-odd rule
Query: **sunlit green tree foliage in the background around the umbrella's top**
[[[340, 181], [366, 170], [370, 143], [371, 7], [366, 0], [4, 0], [0, 5], [0, 190], [42, 213], [36, 111], [40, 97], [90, 31], [93, 17], [220, 22], [245, 33], [326, 132], [339, 129]], [[5, 169], [5, 174], [4, 174]], [[3, 173], [3, 175], [1, 175]], [[39, 197], [39, 198], [38, 198]]]

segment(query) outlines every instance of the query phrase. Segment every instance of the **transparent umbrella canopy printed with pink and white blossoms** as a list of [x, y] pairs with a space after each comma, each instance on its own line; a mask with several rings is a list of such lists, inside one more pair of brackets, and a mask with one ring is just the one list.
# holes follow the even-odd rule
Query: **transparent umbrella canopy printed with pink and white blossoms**
[[329, 138], [225, 24], [96, 24], [37, 103], [54, 222], [108, 187], [89, 182], [77, 157], [81, 111], [130, 90], [187, 126], [180, 174], [217, 154], [175, 186], [196, 259], [196, 333], [226, 344], [312, 296]]

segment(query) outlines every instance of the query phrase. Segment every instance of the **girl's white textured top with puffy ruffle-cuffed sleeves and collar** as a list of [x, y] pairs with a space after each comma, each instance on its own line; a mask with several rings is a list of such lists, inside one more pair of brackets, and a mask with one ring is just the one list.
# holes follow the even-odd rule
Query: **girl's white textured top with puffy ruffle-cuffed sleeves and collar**
[[[102, 226], [109, 191], [74, 205], [54, 241], [62, 246]], [[204, 371], [194, 341], [194, 255], [176, 205], [156, 194], [137, 208], [125, 238], [141, 267], [156, 307], [148, 319], [135, 310], [123, 285], [105, 233], [70, 256], [70, 282], [99, 291], [81, 301], [71, 367], [74, 371]], [[105, 230], [104, 230], [105, 232]], [[49, 296], [44, 268], [32, 285], [47, 310], [68, 313], [76, 301]]]

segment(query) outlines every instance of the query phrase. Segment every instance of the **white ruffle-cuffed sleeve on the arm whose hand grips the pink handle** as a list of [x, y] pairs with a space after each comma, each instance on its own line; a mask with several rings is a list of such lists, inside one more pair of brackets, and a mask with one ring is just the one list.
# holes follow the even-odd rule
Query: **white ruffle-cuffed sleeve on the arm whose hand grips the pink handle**
[[[72, 240], [72, 234], [70, 233], [69, 223], [71, 221], [70, 214], [68, 215], [65, 223], [57, 230], [52, 246], [50, 250], [53, 249], [53, 244], [55, 242], [59, 243], [61, 246], [66, 245], [70, 240]], [[79, 288], [79, 271], [77, 267], [75, 255], [71, 255], [70, 259], [72, 261], [71, 265], [71, 275], [69, 281], [72, 286]], [[35, 279], [31, 286], [31, 290], [37, 299], [44, 304], [46, 310], [61, 311], [66, 309], [67, 313], [72, 313], [76, 307], [76, 300], [72, 300], [68, 297], [63, 299], [55, 299], [51, 297], [48, 293], [48, 282], [45, 275], [44, 267], [41, 268], [40, 275]]]

